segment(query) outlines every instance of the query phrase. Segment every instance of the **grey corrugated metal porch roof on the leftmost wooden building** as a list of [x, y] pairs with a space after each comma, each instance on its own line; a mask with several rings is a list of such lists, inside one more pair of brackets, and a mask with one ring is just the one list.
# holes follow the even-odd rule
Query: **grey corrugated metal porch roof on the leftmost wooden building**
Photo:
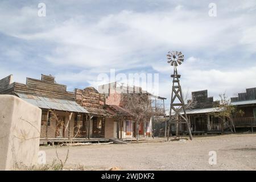
[[38, 97], [23, 93], [16, 93], [22, 100], [38, 106], [42, 109], [62, 110], [76, 113], [89, 113], [84, 107], [81, 107], [76, 101], [60, 100], [48, 97]]

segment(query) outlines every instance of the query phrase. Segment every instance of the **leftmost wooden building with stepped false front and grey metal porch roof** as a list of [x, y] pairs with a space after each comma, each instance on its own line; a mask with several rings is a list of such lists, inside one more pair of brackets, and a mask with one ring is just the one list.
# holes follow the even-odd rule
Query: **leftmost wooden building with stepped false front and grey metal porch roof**
[[76, 103], [75, 93], [57, 84], [53, 76], [42, 75], [41, 80], [27, 78], [26, 84], [13, 82], [13, 75], [7, 76], [0, 80], [0, 94], [18, 96], [42, 109], [42, 142], [73, 138], [80, 115], [89, 113]]

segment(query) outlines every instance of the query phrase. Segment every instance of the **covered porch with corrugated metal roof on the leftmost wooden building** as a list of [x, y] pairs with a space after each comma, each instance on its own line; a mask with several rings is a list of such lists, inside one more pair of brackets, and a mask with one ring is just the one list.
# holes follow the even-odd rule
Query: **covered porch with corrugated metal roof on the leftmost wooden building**
[[16, 93], [22, 100], [42, 109], [40, 140], [76, 138], [77, 119], [88, 111], [75, 101]]

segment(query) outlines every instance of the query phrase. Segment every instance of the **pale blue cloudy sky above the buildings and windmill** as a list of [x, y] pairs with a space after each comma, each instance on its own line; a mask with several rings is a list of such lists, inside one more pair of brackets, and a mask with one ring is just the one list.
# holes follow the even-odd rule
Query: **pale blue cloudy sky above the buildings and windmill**
[[97, 88], [110, 69], [156, 73], [159, 96], [170, 98], [168, 51], [184, 54], [184, 93], [208, 89], [218, 100], [256, 87], [256, 1], [0, 1], [0, 79], [43, 73], [72, 91]]

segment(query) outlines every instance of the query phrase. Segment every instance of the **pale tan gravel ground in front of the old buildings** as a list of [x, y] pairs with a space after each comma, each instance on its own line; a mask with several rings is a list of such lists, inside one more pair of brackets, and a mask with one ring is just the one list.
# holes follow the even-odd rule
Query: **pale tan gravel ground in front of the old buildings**
[[[46, 151], [47, 163], [56, 159], [55, 148]], [[68, 147], [58, 149], [65, 158]], [[209, 151], [217, 152], [217, 164], [209, 165]], [[66, 167], [82, 165], [88, 170], [255, 170], [256, 134], [195, 137], [192, 141], [152, 139], [129, 144], [73, 146]]]

